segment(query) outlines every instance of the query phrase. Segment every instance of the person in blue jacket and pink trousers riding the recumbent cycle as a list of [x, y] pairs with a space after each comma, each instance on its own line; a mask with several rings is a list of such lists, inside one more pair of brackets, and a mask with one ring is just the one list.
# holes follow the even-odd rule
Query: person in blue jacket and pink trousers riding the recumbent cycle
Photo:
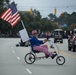
[[44, 39], [43, 41], [38, 40], [37, 30], [32, 31], [32, 37], [30, 39], [30, 42], [31, 42], [31, 46], [32, 46], [33, 50], [43, 52], [45, 54], [46, 58], [51, 57], [52, 59], [54, 59], [54, 57], [57, 54], [53, 54], [52, 52], [49, 52], [48, 46], [45, 44], [47, 42], [47, 40], [48, 39]]

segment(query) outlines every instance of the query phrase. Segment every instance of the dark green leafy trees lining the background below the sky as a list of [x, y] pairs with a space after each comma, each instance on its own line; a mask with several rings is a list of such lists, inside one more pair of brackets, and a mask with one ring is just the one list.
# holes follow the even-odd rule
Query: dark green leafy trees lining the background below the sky
[[[0, 14], [5, 10], [4, 1], [6, 1], [6, 6], [8, 8], [9, 0], [0, 0]], [[53, 31], [55, 28], [59, 28], [59, 25], [67, 24], [66, 27], [63, 27], [64, 30], [73, 30], [76, 28], [76, 12], [68, 14], [67, 12], [61, 13], [59, 17], [55, 14], [50, 13], [49, 18], [42, 18], [39, 11], [34, 9], [32, 14], [29, 11], [19, 11], [21, 19], [30, 33], [33, 29], [40, 30], [42, 32]], [[0, 31], [2, 33], [17, 33], [19, 30], [23, 29], [21, 22], [18, 23], [14, 28], [11, 25], [0, 19]]]

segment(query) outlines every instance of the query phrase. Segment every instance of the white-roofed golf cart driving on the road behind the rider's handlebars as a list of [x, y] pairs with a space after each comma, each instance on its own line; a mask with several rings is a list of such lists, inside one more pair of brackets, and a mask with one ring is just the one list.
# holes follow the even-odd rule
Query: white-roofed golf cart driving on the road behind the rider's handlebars
[[56, 42], [63, 43], [63, 30], [62, 29], [54, 30], [54, 43]]

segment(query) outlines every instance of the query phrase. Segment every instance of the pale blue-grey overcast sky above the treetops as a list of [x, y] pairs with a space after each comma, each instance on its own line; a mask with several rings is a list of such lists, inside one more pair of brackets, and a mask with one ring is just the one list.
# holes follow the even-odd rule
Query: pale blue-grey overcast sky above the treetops
[[56, 16], [62, 12], [76, 12], [76, 0], [10, 0], [17, 4], [17, 9], [21, 11], [29, 11], [31, 8], [38, 10], [42, 17], [48, 17], [50, 13], [54, 14], [56, 8]]

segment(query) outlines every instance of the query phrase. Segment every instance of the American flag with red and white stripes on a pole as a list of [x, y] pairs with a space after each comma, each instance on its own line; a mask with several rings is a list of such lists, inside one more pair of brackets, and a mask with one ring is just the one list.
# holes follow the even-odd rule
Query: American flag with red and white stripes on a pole
[[13, 2], [9, 5], [9, 8], [1, 15], [3, 20], [9, 22], [12, 27], [17, 25], [17, 23], [20, 21], [20, 15], [17, 11], [16, 4]]

